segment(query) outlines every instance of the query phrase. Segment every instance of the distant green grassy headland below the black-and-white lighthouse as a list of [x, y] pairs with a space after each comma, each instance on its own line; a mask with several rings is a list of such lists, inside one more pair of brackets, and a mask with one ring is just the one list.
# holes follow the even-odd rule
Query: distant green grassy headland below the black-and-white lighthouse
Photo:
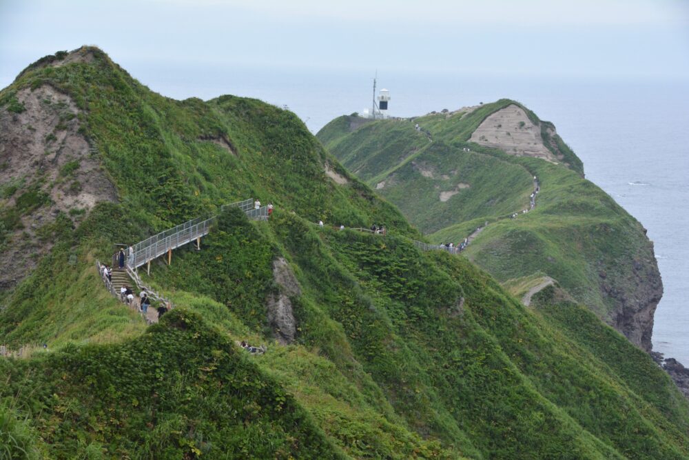
[[[520, 106], [501, 99], [471, 111], [363, 126], [340, 117], [318, 138], [431, 241], [457, 243], [487, 222], [466, 251], [469, 259], [501, 282], [535, 274], [557, 279], [574, 299], [650, 350], [662, 283], [644, 228], [582, 178], [581, 161], [557, 134], [548, 134], [552, 123], [526, 108], [562, 163], [469, 141], [486, 117], [511, 105]], [[537, 207], [508, 219], [528, 208], [533, 176], [541, 187]]]

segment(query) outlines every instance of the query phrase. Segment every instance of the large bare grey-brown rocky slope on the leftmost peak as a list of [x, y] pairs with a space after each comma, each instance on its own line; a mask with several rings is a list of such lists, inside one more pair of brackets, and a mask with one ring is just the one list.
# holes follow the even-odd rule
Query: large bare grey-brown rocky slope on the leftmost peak
[[[88, 56], [70, 59], [77, 58]], [[13, 217], [0, 229], [0, 290], [16, 286], [50, 251], [58, 215], [74, 221], [117, 199], [67, 94], [43, 85], [14, 98], [12, 110], [0, 108], [0, 208]]]

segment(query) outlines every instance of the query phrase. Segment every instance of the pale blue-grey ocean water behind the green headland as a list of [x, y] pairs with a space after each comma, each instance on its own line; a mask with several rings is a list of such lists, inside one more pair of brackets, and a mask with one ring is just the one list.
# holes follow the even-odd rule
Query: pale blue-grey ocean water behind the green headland
[[[152, 90], [184, 99], [220, 94], [287, 106], [314, 133], [334, 117], [371, 106], [372, 71], [127, 66]], [[586, 177], [648, 229], [664, 296], [655, 314], [656, 351], [689, 365], [689, 81], [534, 79], [504, 74], [378, 72], [390, 114], [411, 117], [508, 97], [555, 123], [584, 161]]]

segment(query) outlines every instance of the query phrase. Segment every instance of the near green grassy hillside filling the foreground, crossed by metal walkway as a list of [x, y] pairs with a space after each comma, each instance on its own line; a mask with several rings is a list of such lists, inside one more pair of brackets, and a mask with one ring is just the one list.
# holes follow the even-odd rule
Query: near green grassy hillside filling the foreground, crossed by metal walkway
[[[419, 252], [400, 212], [293, 114], [165, 99], [92, 48], [30, 66], [0, 100], [44, 85], [80, 104], [118, 199], [56, 220], [48, 255], [3, 298], [0, 341], [48, 348], [0, 359], [2, 455], [689, 458], [689, 404], [648, 355], [575, 304], [557, 310], [544, 292], [524, 308], [470, 261]], [[33, 178], [25, 187], [50, 191]], [[229, 209], [200, 251], [142, 274], [176, 306], [160, 323], [109, 297], [94, 261], [112, 243], [251, 194], [276, 203], [269, 221]], [[16, 206], [3, 201], [3, 215]], [[269, 319], [276, 297], [291, 305], [289, 343]]]

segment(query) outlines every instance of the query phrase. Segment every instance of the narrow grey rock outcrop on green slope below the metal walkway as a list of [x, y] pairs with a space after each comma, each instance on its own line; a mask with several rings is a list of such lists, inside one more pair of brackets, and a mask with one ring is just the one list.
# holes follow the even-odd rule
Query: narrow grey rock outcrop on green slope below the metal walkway
[[268, 322], [278, 342], [287, 345], [292, 343], [296, 336], [296, 319], [290, 297], [300, 296], [301, 288], [283, 257], [273, 261], [273, 277], [278, 285], [278, 293], [268, 294], [266, 299]]

